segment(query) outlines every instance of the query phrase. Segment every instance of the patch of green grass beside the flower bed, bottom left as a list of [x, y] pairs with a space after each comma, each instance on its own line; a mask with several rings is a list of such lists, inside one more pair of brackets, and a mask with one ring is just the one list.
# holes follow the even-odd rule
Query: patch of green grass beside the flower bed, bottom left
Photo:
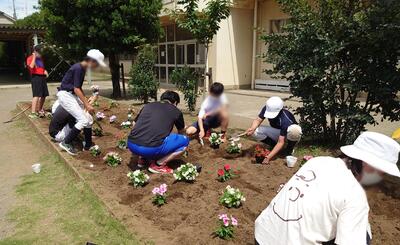
[[25, 176], [16, 189], [17, 202], [8, 215], [15, 233], [0, 245], [140, 243], [56, 154], [40, 160], [41, 173]]

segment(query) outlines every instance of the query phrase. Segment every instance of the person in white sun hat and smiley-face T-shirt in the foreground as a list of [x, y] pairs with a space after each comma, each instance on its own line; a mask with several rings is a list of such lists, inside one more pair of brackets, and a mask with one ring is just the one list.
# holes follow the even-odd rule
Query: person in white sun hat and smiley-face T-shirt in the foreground
[[362, 186], [380, 182], [384, 173], [400, 177], [400, 145], [365, 132], [341, 151], [339, 158], [311, 159], [281, 188], [255, 221], [256, 244], [370, 244]]

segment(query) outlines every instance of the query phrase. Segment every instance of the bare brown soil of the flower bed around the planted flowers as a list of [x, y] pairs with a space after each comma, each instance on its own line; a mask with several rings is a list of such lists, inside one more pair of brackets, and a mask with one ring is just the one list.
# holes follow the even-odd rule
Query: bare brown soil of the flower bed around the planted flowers
[[[129, 150], [116, 148], [117, 141], [130, 131], [121, 130], [119, 126], [126, 120], [127, 106], [105, 108], [107, 104], [101, 102], [98, 109], [103, 109], [107, 116], [117, 115], [118, 120], [114, 124], [110, 124], [108, 118], [100, 122], [105, 135], [95, 139], [95, 143], [101, 147], [102, 154], [93, 157], [89, 152], [81, 152], [74, 166], [88, 179], [101, 198], [113, 207], [114, 213], [130, 230], [156, 244], [254, 244], [254, 220], [275, 196], [279, 185], [297, 171], [297, 168], [287, 168], [282, 159], [270, 165], [254, 164], [252, 152], [255, 143], [252, 141], [242, 140], [243, 154], [234, 159], [226, 159], [230, 156], [225, 154], [223, 146], [213, 150], [208, 144], [201, 147], [197, 141], [192, 140], [188, 157], [183, 160], [202, 164], [202, 172], [194, 183], [176, 183], [172, 175], [150, 175], [148, 185], [134, 188], [129, 185], [126, 174], [136, 168], [136, 157]], [[46, 132], [48, 123], [48, 120], [39, 120], [38, 126]], [[112, 168], [103, 162], [104, 154], [109, 151], [121, 154], [123, 162], [120, 166]], [[90, 167], [91, 163], [94, 164], [93, 168]], [[218, 182], [217, 170], [227, 163], [231, 164], [238, 176], [224, 183]], [[179, 165], [179, 161], [173, 165]], [[169, 187], [168, 203], [155, 207], [151, 203], [151, 190], [162, 183]], [[244, 193], [247, 200], [240, 208], [228, 209], [219, 204], [219, 197], [227, 185], [239, 188]], [[398, 190], [398, 182], [389, 182], [375, 190], [368, 190], [374, 244], [398, 244]], [[220, 213], [231, 214], [239, 220], [235, 239], [231, 241], [222, 241], [212, 236]]]

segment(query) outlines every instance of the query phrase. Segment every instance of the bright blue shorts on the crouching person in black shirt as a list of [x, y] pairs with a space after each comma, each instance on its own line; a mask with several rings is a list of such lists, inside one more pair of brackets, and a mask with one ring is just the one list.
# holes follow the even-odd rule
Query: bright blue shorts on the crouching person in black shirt
[[158, 160], [173, 152], [183, 151], [189, 145], [189, 138], [181, 134], [170, 134], [162, 145], [147, 147], [136, 145], [128, 140], [128, 148], [131, 152], [149, 160]]

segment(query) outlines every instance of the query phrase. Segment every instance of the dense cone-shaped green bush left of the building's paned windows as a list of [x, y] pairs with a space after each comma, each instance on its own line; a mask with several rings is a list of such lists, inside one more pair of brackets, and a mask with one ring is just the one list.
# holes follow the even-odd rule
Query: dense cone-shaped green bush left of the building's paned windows
[[148, 103], [150, 98], [157, 98], [160, 86], [154, 74], [156, 55], [153, 47], [140, 47], [135, 63], [132, 65], [129, 80], [129, 92], [135, 98]]

